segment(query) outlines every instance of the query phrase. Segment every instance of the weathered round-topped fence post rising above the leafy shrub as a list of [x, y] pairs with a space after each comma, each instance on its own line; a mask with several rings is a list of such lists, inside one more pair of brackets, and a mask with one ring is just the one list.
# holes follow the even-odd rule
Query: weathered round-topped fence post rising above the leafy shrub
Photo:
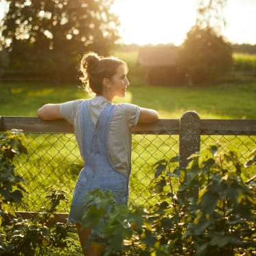
[[180, 167], [185, 169], [191, 154], [200, 150], [200, 117], [196, 111], [183, 113], [180, 119]]

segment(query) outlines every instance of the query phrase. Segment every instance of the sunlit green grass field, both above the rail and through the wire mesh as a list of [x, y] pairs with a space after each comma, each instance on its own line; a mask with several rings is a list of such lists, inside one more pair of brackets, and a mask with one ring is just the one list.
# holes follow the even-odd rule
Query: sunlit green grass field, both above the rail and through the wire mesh
[[[183, 112], [196, 110], [201, 119], [256, 119], [256, 78], [248, 82], [223, 83], [216, 86], [152, 86], [143, 80], [141, 69], [136, 66], [136, 52], [118, 52], [117, 56], [128, 62], [130, 86], [124, 99], [159, 111], [161, 119], [179, 119]], [[36, 110], [45, 103], [66, 102], [86, 98], [79, 84], [51, 84], [38, 82], [1, 83], [0, 115], [36, 116]], [[204, 138], [207, 143], [209, 138]], [[240, 138], [229, 138], [240, 146]], [[254, 141], [244, 141], [246, 148], [254, 147]], [[51, 186], [64, 187], [71, 199], [71, 191], [82, 161], [73, 135], [27, 135], [30, 156], [19, 161], [27, 187], [27, 206], [19, 209], [38, 211]], [[130, 198], [144, 204], [148, 200], [148, 188], [152, 184], [152, 165], [178, 152], [178, 137], [165, 135], [135, 135], [132, 141], [132, 179]], [[248, 154], [248, 152], [246, 153]], [[60, 211], [68, 211], [62, 205]]]

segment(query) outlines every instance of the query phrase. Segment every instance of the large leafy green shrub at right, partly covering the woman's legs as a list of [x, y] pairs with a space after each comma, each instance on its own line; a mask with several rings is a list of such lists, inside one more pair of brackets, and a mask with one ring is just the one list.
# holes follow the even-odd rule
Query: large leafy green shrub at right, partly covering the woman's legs
[[103, 255], [255, 255], [255, 182], [242, 179], [248, 168], [255, 171], [255, 152], [244, 164], [236, 150], [215, 144], [191, 156], [186, 170], [172, 170], [173, 161], [156, 163], [153, 196], [161, 201], [151, 209], [89, 194], [83, 225], [103, 216], [91, 235], [105, 246]]

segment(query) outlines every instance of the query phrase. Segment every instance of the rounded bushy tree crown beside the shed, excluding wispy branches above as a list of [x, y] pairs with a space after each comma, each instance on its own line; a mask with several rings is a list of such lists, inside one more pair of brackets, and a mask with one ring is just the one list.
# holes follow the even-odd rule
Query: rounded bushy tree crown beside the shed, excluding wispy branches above
[[231, 71], [232, 48], [211, 27], [194, 26], [187, 33], [179, 61], [192, 84], [209, 84]]

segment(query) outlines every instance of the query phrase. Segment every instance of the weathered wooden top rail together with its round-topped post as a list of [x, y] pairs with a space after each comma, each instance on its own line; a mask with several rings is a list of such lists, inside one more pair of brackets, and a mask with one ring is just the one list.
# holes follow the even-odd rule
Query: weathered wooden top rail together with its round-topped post
[[[64, 119], [43, 121], [38, 117], [0, 117], [0, 132], [21, 129], [24, 132], [73, 133]], [[200, 135], [256, 135], [256, 119], [200, 119], [195, 111], [183, 113], [181, 119], [161, 119], [154, 124], [132, 128], [133, 134], [179, 135], [180, 165], [187, 165], [187, 157], [200, 150]]]

